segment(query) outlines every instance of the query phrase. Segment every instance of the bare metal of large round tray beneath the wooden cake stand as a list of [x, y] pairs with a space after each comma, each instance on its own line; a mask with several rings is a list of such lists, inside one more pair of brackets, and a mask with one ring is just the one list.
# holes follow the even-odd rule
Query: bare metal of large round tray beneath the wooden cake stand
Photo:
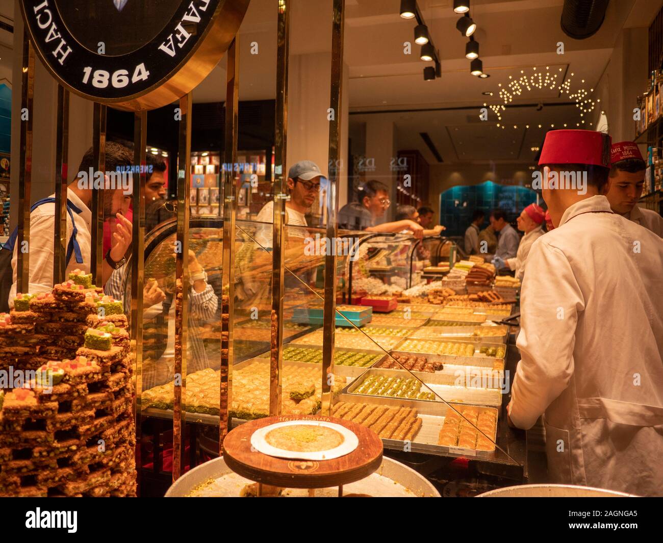
[[[175, 481], [168, 489], [168, 492], [166, 492], [166, 498], [185, 497], [195, 487], [208, 481], [208, 479], [216, 479], [230, 472], [231, 469], [225, 465], [223, 457], [210, 460], [198, 467], [194, 467], [194, 469], [188, 471], [188, 473], [185, 473]], [[386, 456], [383, 457], [382, 464], [377, 469], [377, 473], [406, 487], [417, 496], [426, 498], [440, 497], [440, 493], [423, 475]]]

